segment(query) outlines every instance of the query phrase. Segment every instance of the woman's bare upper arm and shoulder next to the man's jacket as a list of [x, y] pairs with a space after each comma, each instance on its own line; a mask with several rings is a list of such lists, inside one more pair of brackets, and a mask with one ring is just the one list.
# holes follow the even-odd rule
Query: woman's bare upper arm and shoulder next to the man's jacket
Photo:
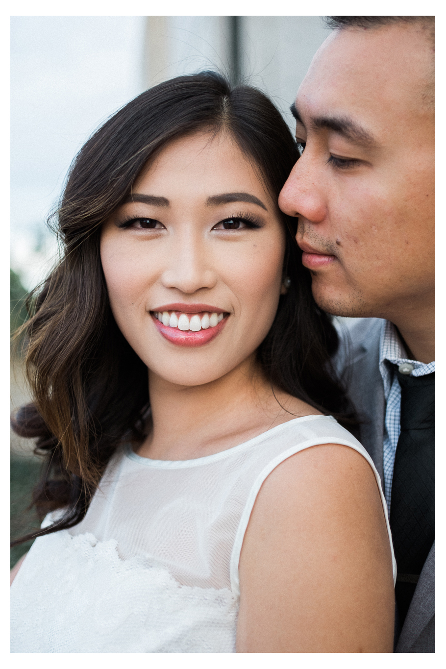
[[[348, 616], [358, 619], [374, 606], [378, 615], [393, 613], [391, 541], [380, 492], [368, 462], [353, 448], [320, 444], [273, 469], [237, 557], [241, 652], [249, 652], [249, 640], [263, 652], [277, 646], [274, 652], [317, 652], [311, 643], [321, 626], [322, 636], [336, 630], [333, 648], [340, 646], [333, 652], [340, 652]], [[247, 615], [253, 607], [254, 617]], [[268, 617], [280, 619], [282, 628], [271, 634]]]

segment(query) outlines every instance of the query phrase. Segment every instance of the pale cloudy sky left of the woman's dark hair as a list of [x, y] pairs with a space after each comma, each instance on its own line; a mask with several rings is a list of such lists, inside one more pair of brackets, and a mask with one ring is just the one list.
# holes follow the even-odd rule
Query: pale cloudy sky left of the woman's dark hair
[[145, 21], [11, 17], [11, 265], [27, 288], [43, 278], [54, 252], [44, 220], [72, 159], [95, 128], [144, 90]]

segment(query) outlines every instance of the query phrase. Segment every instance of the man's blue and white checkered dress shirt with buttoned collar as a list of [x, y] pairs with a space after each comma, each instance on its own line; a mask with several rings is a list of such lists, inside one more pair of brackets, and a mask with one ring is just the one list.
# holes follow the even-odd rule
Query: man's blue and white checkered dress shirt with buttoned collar
[[401, 387], [395, 368], [391, 363], [401, 365], [411, 363], [414, 369], [412, 376], [425, 376], [435, 372], [433, 363], [419, 363], [409, 360], [401, 343], [397, 328], [390, 321], [382, 324], [379, 343], [379, 371], [384, 383], [384, 397], [386, 398], [386, 419], [384, 423], [384, 495], [386, 496], [388, 516], [391, 515], [391, 491], [393, 479], [393, 465], [395, 452], [400, 436]]

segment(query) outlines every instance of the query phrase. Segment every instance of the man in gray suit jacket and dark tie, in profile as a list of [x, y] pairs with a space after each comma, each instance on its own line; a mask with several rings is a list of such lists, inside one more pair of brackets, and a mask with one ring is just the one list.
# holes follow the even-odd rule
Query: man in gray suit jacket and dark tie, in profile
[[338, 365], [389, 508], [395, 651], [435, 652], [434, 17], [328, 25], [279, 203], [316, 302], [358, 319]]

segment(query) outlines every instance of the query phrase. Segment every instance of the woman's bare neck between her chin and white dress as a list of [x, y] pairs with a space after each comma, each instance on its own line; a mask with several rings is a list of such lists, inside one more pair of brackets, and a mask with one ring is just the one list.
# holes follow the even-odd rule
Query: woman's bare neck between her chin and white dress
[[201, 458], [296, 415], [318, 413], [286, 393], [273, 393], [254, 355], [224, 377], [193, 387], [149, 372], [149, 392], [152, 427], [138, 454], [153, 460]]

